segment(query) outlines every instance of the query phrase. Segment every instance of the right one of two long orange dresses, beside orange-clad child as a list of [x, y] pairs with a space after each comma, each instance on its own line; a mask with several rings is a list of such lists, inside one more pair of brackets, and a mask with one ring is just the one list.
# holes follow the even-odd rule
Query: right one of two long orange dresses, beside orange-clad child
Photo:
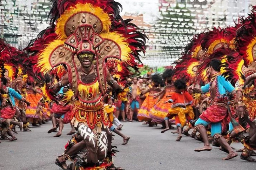
[[[158, 98], [157, 103], [153, 106], [153, 108], [150, 110], [150, 118], [152, 119], [152, 122], [155, 123], [162, 123], [168, 114], [168, 109], [172, 107], [172, 103], [165, 103], [170, 99], [173, 92], [175, 91], [175, 88], [173, 85], [168, 85], [165, 87], [162, 96]], [[170, 120], [171, 122], [174, 122], [174, 120]]]

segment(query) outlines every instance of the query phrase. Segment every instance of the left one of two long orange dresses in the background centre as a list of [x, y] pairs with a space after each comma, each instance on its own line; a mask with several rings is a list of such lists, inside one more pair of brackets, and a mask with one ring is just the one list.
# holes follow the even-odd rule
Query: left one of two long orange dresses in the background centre
[[139, 109], [139, 112], [138, 112], [137, 118], [140, 121], [151, 120], [149, 116], [150, 110], [154, 107], [155, 103], [157, 102], [157, 98], [154, 98], [154, 96], [160, 91], [161, 89], [158, 87], [153, 87], [150, 89], [148, 96], [142, 103], [141, 108]]

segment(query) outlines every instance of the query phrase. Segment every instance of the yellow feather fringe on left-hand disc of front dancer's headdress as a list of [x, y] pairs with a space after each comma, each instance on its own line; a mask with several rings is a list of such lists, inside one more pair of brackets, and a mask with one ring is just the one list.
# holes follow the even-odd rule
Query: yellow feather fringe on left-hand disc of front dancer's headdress
[[49, 57], [50, 57], [51, 53], [57, 46], [63, 45], [64, 42], [65, 42], [64, 40], [56, 39], [56, 40], [52, 41], [51, 43], [49, 43], [48, 45], [46, 45], [46, 48], [44, 50], [42, 50], [42, 52], [39, 54], [38, 66], [41, 69], [41, 71], [43, 72], [43, 74], [46, 74], [47, 71], [52, 69], [52, 67], [49, 63]]

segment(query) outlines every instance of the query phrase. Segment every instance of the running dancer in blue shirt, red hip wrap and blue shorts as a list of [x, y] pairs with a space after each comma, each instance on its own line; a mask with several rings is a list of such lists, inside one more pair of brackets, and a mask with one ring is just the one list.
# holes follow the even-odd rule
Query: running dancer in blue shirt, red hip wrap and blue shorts
[[[211, 76], [211, 81], [209, 84], [197, 89], [204, 93], [209, 91], [212, 97], [212, 102], [195, 123], [195, 129], [199, 131], [204, 142], [204, 147], [195, 149], [195, 151], [201, 152], [212, 150], [209, 143], [207, 130], [205, 129], [205, 126], [211, 123], [211, 135], [214, 137], [214, 140], [216, 140], [225, 150], [229, 152], [228, 156], [222, 160], [228, 160], [236, 157], [237, 153], [232, 150], [225, 138], [221, 135], [221, 122], [227, 116], [227, 92], [231, 94], [237, 93], [235, 101], [239, 100], [242, 93], [239, 90], [236, 91], [234, 87], [220, 75], [219, 71], [221, 70], [221, 64], [221, 61], [217, 59], [213, 59], [210, 62], [209, 73]], [[193, 89], [193, 86], [190, 86], [190, 88]], [[194, 88], [194, 90], [195, 89], [196, 88]]]

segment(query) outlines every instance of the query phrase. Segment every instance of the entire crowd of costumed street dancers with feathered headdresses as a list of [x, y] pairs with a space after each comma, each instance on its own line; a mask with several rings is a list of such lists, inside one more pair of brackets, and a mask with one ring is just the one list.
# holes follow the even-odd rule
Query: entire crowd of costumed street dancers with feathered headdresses
[[49, 27], [25, 49], [0, 41], [1, 139], [17, 140], [17, 127], [28, 132], [29, 122], [51, 119], [55, 137], [71, 125], [72, 138], [55, 160], [61, 169], [122, 170], [111, 145], [112, 133], [123, 145], [130, 139], [120, 117], [162, 124], [161, 133], [175, 124], [176, 141], [201, 140], [196, 152], [212, 143], [228, 153], [223, 160], [238, 155], [230, 143], [239, 141], [241, 159], [256, 162], [256, 7], [234, 27], [194, 35], [173, 70], [140, 78], [131, 72], [141, 66], [147, 37], [122, 19], [120, 7], [114, 0], [54, 0]]

